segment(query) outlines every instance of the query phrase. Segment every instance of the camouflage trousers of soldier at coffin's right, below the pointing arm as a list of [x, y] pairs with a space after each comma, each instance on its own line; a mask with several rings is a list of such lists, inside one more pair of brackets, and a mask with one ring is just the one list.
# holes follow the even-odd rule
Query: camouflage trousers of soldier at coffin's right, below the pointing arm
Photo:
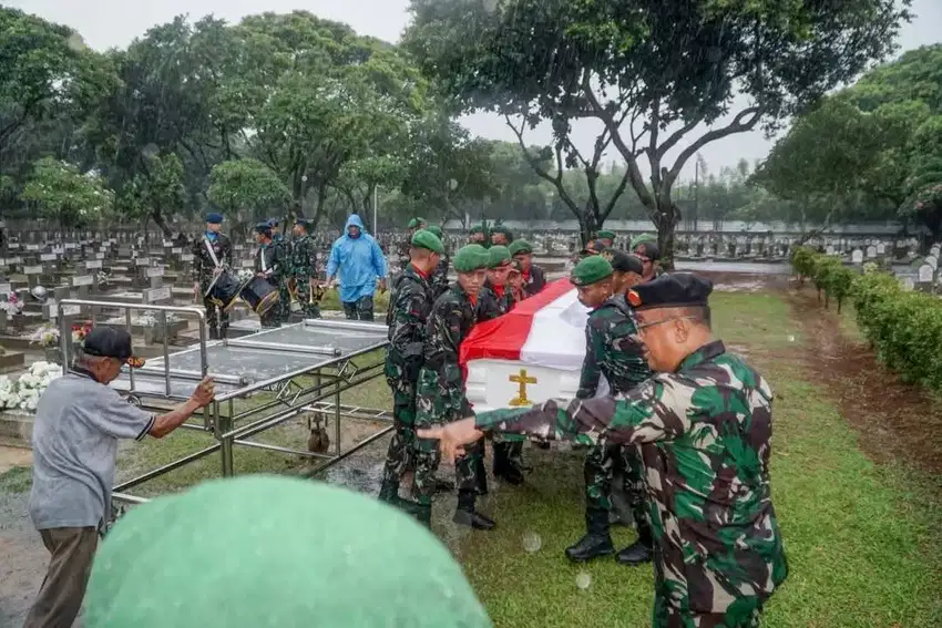
[[638, 533], [649, 528], [647, 496], [644, 491], [644, 464], [635, 446], [593, 446], [585, 456], [585, 506], [593, 511], [612, 511], [612, 478], [624, 474], [624, 490]]

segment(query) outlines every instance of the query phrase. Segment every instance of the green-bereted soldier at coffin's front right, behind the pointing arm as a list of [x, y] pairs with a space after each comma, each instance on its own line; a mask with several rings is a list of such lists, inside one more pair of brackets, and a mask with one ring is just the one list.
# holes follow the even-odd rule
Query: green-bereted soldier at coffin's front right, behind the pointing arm
[[[623, 265], [633, 264], [631, 270], [641, 272], [641, 260], [617, 253], [620, 271], [623, 271]], [[570, 277], [578, 290], [578, 300], [592, 308], [585, 326], [585, 360], [576, 399], [595, 397], [603, 375], [610, 393], [621, 394], [653, 374], [637, 342], [632, 308], [624, 292], [615, 292], [613, 277], [613, 265], [605, 255], [583, 259]], [[641, 467], [637, 447], [633, 445], [606, 444], [590, 450], [583, 467], [585, 535], [566, 548], [566, 556], [571, 560], [591, 560], [615, 553], [608, 527], [612, 478], [616, 471], [624, 474], [625, 495], [638, 533], [637, 541], [618, 553], [618, 562], [639, 565], [651, 560], [653, 541], [645, 513], [646, 500]]]

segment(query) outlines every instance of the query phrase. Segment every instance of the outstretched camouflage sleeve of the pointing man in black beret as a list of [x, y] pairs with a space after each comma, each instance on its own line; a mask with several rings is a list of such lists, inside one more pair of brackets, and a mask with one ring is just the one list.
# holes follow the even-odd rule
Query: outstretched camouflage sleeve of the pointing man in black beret
[[482, 412], [481, 431], [508, 432], [584, 444], [652, 443], [673, 440], [690, 429], [697, 389], [674, 373], [659, 374], [617, 398], [547, 401], [520, 410]]

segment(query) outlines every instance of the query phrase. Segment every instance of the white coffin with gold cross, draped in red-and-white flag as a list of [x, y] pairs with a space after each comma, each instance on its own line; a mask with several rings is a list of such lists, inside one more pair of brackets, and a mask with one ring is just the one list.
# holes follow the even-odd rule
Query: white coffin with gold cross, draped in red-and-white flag
[[[585, 358], [588, 308], [569, 279], [506, 315], [474, 326], [461, 343], [465, 394], [475, 412], [571, 400]], [[604, 383], [600, 393], [607, 390]]]

